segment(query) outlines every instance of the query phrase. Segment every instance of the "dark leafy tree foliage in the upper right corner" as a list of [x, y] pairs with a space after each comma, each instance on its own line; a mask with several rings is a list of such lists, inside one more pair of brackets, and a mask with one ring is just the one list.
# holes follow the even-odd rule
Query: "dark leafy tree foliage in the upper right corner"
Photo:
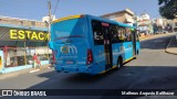
[[166, 19], [175, 19], [177, 16], [177, 0], [158, 0], [159, 13]]

